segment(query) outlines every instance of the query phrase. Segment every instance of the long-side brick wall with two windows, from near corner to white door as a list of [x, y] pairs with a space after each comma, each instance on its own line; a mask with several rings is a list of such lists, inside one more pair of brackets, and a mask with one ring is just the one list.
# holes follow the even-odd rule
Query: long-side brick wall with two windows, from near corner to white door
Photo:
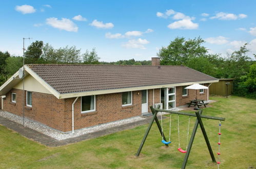
[[[81, 97], [74, 104], [74, 129], [121, 120], [141, 115], [141, 92], [132, 92], [132, 105], [122, 107], [122, 93], [96, 95], [96, 111], [81, 113]], [[75, 98], [65, 99], [65, 131], [72, 130], [72, 102]]]

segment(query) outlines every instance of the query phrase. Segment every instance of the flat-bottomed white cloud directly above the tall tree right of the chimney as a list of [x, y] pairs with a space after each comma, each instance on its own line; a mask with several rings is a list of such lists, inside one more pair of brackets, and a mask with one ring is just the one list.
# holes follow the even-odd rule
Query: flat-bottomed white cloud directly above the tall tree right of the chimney
[[198, 29], [198, 24], [193, 23], [190, 19], [182, 19], [171, 23], [167, 27], [170, 29]]

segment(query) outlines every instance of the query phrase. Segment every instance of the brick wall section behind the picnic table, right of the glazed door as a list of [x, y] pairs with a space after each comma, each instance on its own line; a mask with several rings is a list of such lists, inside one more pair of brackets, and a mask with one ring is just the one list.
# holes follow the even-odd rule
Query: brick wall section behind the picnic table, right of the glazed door
[[[208, 86], [208, 83], [204, 84], [204, 86]], [[188, 96], [182, 96], [182, 86], [176, 87], [176, 107], [181, 105], [185, 105], [189, 100], [195, 99], [196, 90], [188, 90]], [[204, 93], [200, 93], [198, 90], [198, 99], [207, 100], [207, 89], [204, 90]]]

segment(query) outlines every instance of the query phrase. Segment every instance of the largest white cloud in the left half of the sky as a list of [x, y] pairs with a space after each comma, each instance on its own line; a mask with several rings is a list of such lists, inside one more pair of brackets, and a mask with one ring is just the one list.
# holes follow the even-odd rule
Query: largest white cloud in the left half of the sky
[[53, 28], [65, 30], [69, 32], [77, 32], [78, 27], [68, 18], [62, 18], [58, 20], [56, 17], [50, 17], [46, 19], [46, 23]]

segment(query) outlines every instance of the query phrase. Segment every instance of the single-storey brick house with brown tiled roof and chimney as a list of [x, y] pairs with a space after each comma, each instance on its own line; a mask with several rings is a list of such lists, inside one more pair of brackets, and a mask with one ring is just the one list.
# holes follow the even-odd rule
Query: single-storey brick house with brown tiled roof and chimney
[[[150, 112], [163, 103], [173, 109], [195, 98], [193, 83], [219, 80], [185, 66], [25, 65], [0, 87], [2, 109], [63, 132]], [[25, 90], [23, 90], [23, 87]], [[198, 98], [208, 100], [208, 90]]]

